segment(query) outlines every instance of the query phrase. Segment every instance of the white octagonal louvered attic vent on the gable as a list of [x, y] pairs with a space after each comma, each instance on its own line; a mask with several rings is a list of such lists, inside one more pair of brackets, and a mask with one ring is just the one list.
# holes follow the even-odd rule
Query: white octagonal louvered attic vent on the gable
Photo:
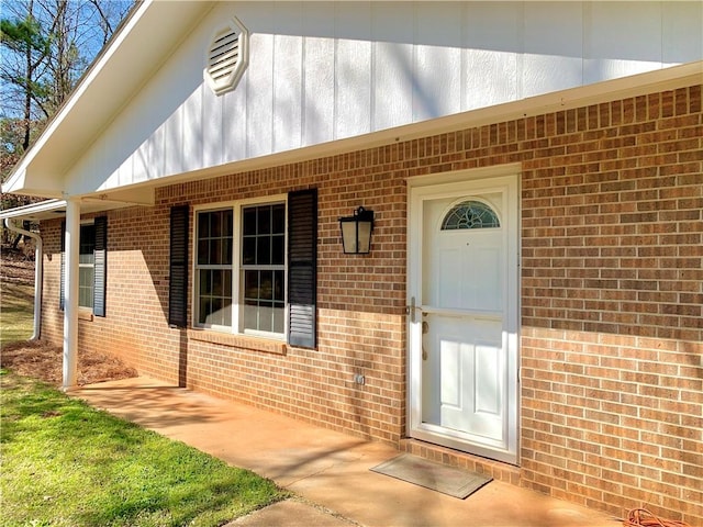
[[249, 33], [233, 18], [210, 41], [204, 78], [216, 94], [236, 88], [249, 63]]

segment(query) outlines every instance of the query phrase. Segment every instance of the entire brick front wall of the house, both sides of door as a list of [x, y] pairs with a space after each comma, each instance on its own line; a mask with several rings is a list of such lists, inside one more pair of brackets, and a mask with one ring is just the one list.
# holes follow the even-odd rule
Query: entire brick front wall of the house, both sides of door
[[[109, 213], [108, 317], [81, 321], [80, 346], [397, 444], [405, 179], [520, 161], [521, 484], [703, 522], [702, 115], [693, 86], [157, 189], [155, 208]], [[308, 187], [320, 192], [319, 349], [254, 351], [168, 328], [168, 208]], [[345, 257], [337, 217], [360, 204], [377, 215], [373, 250]], [[57, 222], [43, 229], [56, 251]], [[44, 332], [60, 338], [53, 256]]]

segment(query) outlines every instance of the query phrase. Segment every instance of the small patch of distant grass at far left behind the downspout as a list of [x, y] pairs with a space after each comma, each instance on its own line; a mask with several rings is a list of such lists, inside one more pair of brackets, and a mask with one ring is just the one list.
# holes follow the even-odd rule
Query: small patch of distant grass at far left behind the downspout
[[32, 336], [33, 310], [34, 285], [0, 282], [0, 345]]

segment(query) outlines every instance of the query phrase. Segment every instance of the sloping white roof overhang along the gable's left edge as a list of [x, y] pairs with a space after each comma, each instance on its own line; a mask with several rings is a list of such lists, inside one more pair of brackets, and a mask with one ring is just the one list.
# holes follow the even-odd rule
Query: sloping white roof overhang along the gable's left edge
[[136, 4], [14, 167], [2, 192], [60, 198], [68, 169], [212, 5], [158, 0]]

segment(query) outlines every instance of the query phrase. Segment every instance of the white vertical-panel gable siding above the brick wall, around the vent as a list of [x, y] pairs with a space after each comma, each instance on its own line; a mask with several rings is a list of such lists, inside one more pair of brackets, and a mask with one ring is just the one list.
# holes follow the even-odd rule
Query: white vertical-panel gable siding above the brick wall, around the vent
[[[701, 2], [216, 3], [90, 145], [69, 193], [208, 169], [703, 58]], [[237, 88], [213, 31], [250, 33]], [[88, 146], [88, 145], [87, 145]]]

